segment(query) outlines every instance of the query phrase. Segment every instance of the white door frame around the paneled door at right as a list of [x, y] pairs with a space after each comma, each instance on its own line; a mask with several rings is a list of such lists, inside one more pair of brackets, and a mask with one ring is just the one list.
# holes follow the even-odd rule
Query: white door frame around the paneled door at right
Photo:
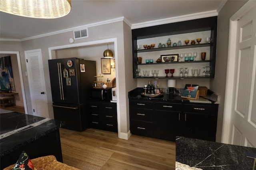
[[229, 23], [229, 40], [228, 40], [228, 64], [227, 64], [227, 74], [226, 74], [226, 91], [225, 91], [225, 102], [224, 102], [224, 113], [223, 113], [223, 123], [222, 123], [222, 143], [231, 144], [231, 110], [232, 102], [235, 97], [233, 94], [233, 82], [236, 78], [234, 76], [235, 60], [232, 59], [236, 53], [236, 37], [237, 21], [247, 14], [248, 11], [256, 7], [256, 1], [249, 0], [242, 6], [231, 18]]

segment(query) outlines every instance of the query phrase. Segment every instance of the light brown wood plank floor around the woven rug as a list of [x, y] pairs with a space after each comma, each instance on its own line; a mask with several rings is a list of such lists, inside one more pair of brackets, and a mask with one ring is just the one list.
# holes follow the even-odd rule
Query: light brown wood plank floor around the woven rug
[[175, 170], [175, 142], [138, 135], [124, 140], [117, 133], [98, 129], [77, 132], [60, 128], [61, 142], [63, 138], [113, 151], [101, 170]]

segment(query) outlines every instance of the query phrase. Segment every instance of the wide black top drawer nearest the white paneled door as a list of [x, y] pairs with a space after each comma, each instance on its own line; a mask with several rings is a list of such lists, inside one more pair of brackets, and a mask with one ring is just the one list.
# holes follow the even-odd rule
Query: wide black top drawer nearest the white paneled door
[[216, 115], [218, 114], [218, 104], [201, 105], [201, 104], [184, 104], [184, 112], [202, 113]]

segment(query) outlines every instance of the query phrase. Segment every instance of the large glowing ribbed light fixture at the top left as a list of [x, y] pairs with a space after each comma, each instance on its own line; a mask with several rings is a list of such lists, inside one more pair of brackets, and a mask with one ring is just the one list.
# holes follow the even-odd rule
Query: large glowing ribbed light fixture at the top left
[[60, 18], [70, 10], [70, 0], [0, 0], [0, 11], [30, 18]]

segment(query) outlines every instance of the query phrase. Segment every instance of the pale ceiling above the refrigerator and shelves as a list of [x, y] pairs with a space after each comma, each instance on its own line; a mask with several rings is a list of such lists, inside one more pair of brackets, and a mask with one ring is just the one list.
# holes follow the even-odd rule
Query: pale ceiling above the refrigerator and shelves
[[35, 19], [0, 12], [0, 39], [25, 40], [124, 17], [130, 26], [215, 11], [226, 0], [71, 0], [70, 14], [57, 19]]

